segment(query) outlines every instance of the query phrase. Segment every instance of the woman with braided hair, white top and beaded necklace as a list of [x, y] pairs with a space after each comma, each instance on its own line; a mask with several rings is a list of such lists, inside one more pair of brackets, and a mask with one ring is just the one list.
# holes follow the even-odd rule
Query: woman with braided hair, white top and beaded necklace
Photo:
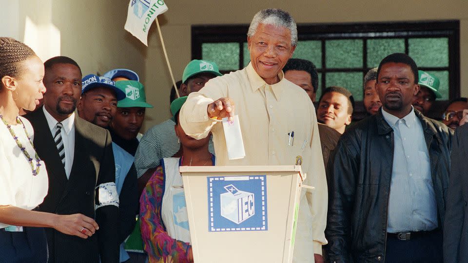
[[[44, 65], [27, 45], [0, 37], [0, 262], [47, 262], [44, 229], [87, 238], [98, 225], [84, 215], [34, 211], [48, 191], [34, 131], [20, 109], [34, 110], [45, 93]], [[80, 232], [82, 229], [89, 231]]]

